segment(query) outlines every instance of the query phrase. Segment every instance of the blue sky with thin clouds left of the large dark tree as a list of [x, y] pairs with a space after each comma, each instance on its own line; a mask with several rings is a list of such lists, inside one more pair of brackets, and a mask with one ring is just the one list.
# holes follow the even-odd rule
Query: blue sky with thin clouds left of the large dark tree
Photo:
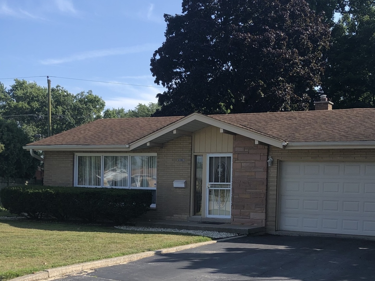
[[[0, 0], [0, 78], [60, 76], [157, 86], [150, 58], [164, 41], [163, 14], [181, 0]], [[163, 88], [50, 78], [71, 93], [92, 90], [106, 108], [156, 102]], [[28, 78], [46, 85], [46, 78]], [[1, 80], [6, 86], [13, 80]]]

